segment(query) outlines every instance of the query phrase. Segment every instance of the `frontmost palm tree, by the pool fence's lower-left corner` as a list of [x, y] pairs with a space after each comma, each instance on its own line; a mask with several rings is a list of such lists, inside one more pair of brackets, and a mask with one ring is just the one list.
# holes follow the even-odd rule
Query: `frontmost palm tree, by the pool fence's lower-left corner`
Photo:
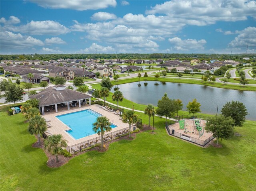
[[56, 156], [56, 162], [59, 161], [58, 154], [62, 152], [62, 147], [67, 146], [67, 141], [62, 139], [63, 136], [61, 134], [49, 136], [44, 141], [44, 148], [46, 148], [49, 152]]

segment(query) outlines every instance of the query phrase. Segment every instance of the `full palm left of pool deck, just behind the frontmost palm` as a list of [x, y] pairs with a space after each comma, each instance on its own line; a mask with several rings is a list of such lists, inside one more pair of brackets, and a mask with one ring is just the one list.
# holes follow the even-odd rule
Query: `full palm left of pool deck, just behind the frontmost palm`
[[44, 118], [37, 115], [29, 121], [28, 132], [32, 135], [37, 135], [38, 137], [38, 145], [40, 145], [40, 137], [46, 131], [46, 122]]

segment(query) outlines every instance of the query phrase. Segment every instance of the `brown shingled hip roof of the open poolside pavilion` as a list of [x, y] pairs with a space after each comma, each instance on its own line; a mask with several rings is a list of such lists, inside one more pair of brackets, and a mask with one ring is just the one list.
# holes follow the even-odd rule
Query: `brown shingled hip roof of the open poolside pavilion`
[[39, 100], [39, 106], [53, 105], [63, 102], [71, 102], [75, 100], [82, 100], [92, 98], [92, 96], [66, 89], [63, 85], [56, 85], [48, 87], [45, 90], [30, 96], [30, 98], [36, 98]]

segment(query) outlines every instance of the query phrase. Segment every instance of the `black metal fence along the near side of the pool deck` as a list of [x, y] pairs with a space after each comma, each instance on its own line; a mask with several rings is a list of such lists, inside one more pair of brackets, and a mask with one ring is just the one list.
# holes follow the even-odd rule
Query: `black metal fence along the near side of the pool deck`
[[[138, 122], [136, 124], [133, 124], [131, 126], [131, 132], [135, 131], [136, 129], [141, 129], [142, 128], [142, 119], [139, 119]], [[114, 140], [117, 139], [121, 136], [127, 135], [129, 133], [129, 127], [126, 128], [122, 128], [120, 130], [116, 130], [114, 132], [110, 132], [107, 134], [103, 135], [103, 142], [107, 142], [110, 140]], [[98, 136], [96, 138], [84, 141], [84, 142], [80, 142], [78, 144], [74, 144], [72, 146], [68, 146], [66, 148], [66, 150], [70, 153], [73, 154], [75, 152], [80, 152], [83, 150], [86, 150], [87, 148], [90, 148], [92, 146], [96, 146], [98, 144], [101, 144], [101, 136]]]

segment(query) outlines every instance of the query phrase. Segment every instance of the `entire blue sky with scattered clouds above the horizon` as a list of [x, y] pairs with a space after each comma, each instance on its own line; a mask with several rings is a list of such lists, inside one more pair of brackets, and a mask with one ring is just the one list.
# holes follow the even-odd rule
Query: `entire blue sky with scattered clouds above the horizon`
[[0, 1], [1, 54], [256, 53], [255, 1]]

